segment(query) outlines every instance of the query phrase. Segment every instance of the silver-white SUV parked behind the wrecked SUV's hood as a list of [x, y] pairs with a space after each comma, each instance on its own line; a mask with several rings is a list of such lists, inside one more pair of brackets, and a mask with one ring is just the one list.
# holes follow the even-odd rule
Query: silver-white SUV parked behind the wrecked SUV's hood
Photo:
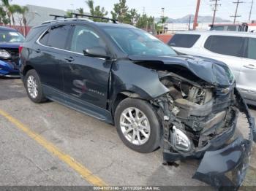
[[256, 34], [233, 31], [178, 32], [168, 44], [174, 50], [227, 63], [247, 104], [256, 105]]

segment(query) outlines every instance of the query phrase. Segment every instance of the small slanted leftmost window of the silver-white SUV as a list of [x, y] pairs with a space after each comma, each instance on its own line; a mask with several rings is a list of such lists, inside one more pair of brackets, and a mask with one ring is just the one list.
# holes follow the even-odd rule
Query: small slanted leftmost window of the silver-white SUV
[[168, 45], [171, 47], [192, 47], [200, 38], [198, 34], [176, 34], [170, 39]]

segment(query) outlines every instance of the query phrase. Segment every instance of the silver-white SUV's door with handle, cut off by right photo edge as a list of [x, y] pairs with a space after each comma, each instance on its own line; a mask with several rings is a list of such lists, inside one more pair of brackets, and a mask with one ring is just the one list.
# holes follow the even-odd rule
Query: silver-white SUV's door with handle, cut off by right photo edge
[[238, 84], [244, 98], [256, 101], [256, 38], [246, 38], [245, 58], [242, 59]]

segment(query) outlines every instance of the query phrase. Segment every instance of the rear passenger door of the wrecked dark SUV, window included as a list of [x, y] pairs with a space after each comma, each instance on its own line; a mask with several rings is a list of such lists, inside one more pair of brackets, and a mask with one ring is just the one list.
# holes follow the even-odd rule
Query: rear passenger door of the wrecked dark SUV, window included
[[37, 52], [33, 60], [35, 69], [45, 93], [53, 99], [61, 98], [64, 90], [61, 64], [66, 62], [70, 29], [69, 25], [52, 26], [37, 40], [34, 48]]

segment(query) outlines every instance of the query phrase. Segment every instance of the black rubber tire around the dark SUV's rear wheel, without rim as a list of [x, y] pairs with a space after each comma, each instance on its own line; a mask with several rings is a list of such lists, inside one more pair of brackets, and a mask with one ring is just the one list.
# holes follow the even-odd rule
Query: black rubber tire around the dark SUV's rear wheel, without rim
[[[28, 79], [29, 77], [34, 77], [35, 82], [37, 83], [37, 96], [36, 97], [32, 97], [29, 93], [29, 89], [28, 89]], [[29, 70], [26, 73], [25, 76], [25, 80], [24, 80], [24, 85], [26, 88], [26, 93], [29, 96], [29, 98], [31, 99], [31, 101], [33, 101], [36, 104], [42, 103], [46, 100], [45, 95], [42, 92], [42, 85], [41, 85], [41, 81], [39, 79], [39, 76], [37, 74], [37, 71], [35, 71], [34, 69]]]

